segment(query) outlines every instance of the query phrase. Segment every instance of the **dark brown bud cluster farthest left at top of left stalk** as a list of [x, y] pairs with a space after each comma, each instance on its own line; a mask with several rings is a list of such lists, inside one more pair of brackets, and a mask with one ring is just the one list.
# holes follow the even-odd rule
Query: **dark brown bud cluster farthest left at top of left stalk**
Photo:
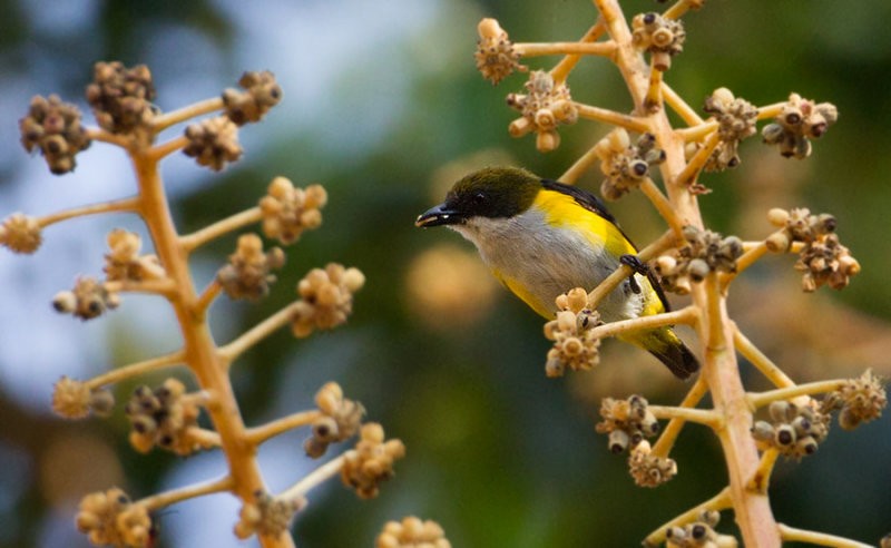
[[87, 130], [80, 124], [80, 110], [58, 96], [35, 96], [28, 115], [19, 120], [21, 144], [29, 153], [40, 150], [55, 175], [77, 166], [77, 153], [90, 146]]

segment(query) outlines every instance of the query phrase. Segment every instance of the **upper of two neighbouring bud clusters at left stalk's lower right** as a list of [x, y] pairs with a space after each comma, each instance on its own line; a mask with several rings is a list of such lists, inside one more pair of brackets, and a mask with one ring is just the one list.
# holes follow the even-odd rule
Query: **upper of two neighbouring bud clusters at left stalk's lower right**
[[365, 414], [361, 403], [343, 397], [343, 390], [336, 382], [329, 382], [319, 390], [315, 404], [322, 417], [313, 422], [313, 434], [303, 443], [306, 454], [313, 459], [325, 454], [331, 443], [355, 436]]

